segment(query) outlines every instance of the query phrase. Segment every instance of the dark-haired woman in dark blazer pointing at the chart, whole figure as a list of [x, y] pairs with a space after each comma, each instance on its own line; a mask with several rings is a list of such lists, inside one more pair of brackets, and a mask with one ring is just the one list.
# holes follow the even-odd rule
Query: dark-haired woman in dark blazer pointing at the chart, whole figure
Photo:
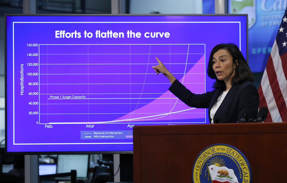
[[169, 91], [190, 107], [209, 108], [210, 123], [236, 123], [241, 115], [255, 119], [259, 94], [253, 85], [253, 75], [241, 51], [235, 44], [216, 45], [209, 57], [207, 74], [215, 79], [214, 90], [194, 94], [183, 86], [162, 62], [152, 66], [171, 83]]

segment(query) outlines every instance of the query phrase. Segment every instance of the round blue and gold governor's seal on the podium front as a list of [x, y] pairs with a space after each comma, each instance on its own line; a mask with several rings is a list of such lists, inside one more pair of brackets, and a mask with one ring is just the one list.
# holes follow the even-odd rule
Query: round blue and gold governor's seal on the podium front
[[251, 168], [245, 155], [227, 144], [206, 147], [193, 165], [194, 183], [250, 183], [251, 179]]

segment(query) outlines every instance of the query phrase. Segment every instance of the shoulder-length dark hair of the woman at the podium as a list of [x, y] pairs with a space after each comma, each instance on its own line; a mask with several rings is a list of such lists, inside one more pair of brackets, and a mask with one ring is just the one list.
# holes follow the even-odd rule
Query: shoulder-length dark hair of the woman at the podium
[[[230, 53], [230, 55], [232, 56], [233, 63], [236, 65], [235, 74], [231, 78], [232, 85], [233, 84], [241, 84], [245, 81], [253, 82], [254, 79], [253, 79], [252, 72], [251, 72], [245, 58], [243, 57], [241, 51], [239, 50], [239, 48], [234, 43], [219, 44], [219, 45], [216, 45], [211, 50], [211, 53], [209, 56], [209, 62], [208, 62], [208, 66], [207, 66], [208, 76], [212, 79], [215, 79], [215, 82], [214, 82], [212, 87], [216, 88], [216, 89], [223, 89], [223, 90], [226, 89], [226, 85], [225, 85], [224, 81], [217, 79], [215, 72], [213, 71], [213, 68], [212, 68], [213, 55], [215, 52], [217, 52], [218, 50], [221, 50], [221, 49], [224, 49]], [[236, 60], [238, 63], [236, 63]]]

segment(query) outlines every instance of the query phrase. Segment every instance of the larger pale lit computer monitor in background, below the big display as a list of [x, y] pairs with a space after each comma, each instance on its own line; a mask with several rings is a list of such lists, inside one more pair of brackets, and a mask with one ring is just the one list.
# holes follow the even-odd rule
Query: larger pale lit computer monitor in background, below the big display
[[58, 155], [57, 173], [77, 171], [77, 178], [87, 178], [89, 168], [89, 155]]

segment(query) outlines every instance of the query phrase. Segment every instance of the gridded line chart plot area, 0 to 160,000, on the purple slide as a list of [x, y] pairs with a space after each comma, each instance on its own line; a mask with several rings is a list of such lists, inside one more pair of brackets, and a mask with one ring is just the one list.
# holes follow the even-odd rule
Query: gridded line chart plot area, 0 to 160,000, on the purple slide
[[39, 45], [40, 123], [204, 121], [205, 109], [168, 91], [151, 68], [155, 57], [192, 92], [205, 92], [204, 44]]

